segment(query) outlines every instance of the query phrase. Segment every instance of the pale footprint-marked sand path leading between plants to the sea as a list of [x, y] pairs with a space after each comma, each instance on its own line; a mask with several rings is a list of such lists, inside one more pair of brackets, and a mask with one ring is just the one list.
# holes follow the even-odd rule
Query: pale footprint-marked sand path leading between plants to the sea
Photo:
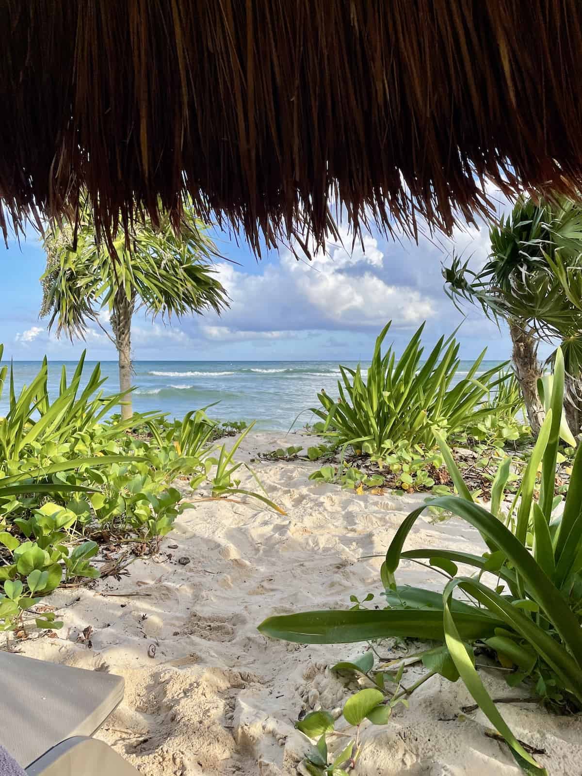
[[[239, 458], [300, 443], [313, 438], [256, 433]], [[265, 639], [256, 626], [275, 613], [347, 608], [352, 593], [377, 594], [381, 559], [360, 558], [384, 553], [421, 502], [315, 485], [307, 476], [317, 465], [309, 462], [252, 466], [285, 517], [256, 501], [197, 504], [178, 518], [159, 556], [136, 559], [130, 576], [54, 594], [50, 604], [66, 606], [57, 638], [19, 644], [29, 656], [123, 674], [125, 699], [98, 737], [147, 776], [295, 774], [305, 740], [293, 722], [302, 709], [342, 705], [350, 691], [327, 665], [365, 645], [287, 644]], [[242, 487], [254, 487], [250, 475]], [[454, 518], [417, 522], [407, 547], [431, 545], [483, 552], [479, 535]], [[438, 576], [411, 563], [398, 578], [440, 589]], [[89, 625], [91, 650], [76, 640]], [[494, 670], [482, 675], [494, 695], [524, 695]], [[355, 774], [518, 774], [507, 747], [485, 736], [480, 712], [457, 716], [472, 702], [460, 681], [433, 677], [408, 710], [365, 729]], [[538, 760], [553, 776], [582, 773], [582, 719], [532, 704], [500, 708], [518, 738], [546, 750]]]

